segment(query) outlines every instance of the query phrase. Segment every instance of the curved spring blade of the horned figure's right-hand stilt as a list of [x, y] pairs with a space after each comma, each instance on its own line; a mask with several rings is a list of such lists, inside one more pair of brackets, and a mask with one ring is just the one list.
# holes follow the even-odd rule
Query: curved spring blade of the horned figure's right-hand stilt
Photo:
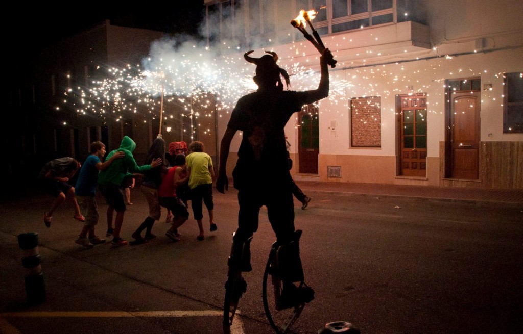
[[[292, 330], [293, 325], [303, 311], [305, 303], [297, 302], [292, 307], [285, 307], [281, 304], [283, 283], [278, 273], [279, 249], [280, 245], [277, 241], [270, 248], [269, 258], [263, 275], [262, 298], [265, 314], [271, 327], [276, 333], [285, 334]], [[299, 288], [302, 287], [306, 287], [303, 281], [299, 283]]]

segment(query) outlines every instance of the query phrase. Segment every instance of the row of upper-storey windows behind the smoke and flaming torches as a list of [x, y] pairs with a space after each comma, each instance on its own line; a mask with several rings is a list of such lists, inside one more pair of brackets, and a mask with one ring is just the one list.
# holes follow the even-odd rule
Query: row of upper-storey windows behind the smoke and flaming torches
[[233, 37], [232, 46], [241, 48], [301, 41], [300, 31], [290, 25], [301, 9], [316, 11], [313, 25], [320, 35], [410, 20], [423, 23], [419, 13], [426, 13], [423, 4], [411, 0], [218, 0], [207, 5], [208, 39], [229, 42]]

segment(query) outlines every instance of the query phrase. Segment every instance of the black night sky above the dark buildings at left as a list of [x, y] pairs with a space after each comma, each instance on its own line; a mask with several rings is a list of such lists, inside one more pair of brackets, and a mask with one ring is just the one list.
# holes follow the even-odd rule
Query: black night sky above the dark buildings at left
[[[108, 3], [110, 3], [108, 5]], [[36, 52], [69, 35], [110, 19], [112, 25], [197, 36], [203, 0], [169, 2], [19, 2], [4, 13], [6, 39], [15, 54]]]

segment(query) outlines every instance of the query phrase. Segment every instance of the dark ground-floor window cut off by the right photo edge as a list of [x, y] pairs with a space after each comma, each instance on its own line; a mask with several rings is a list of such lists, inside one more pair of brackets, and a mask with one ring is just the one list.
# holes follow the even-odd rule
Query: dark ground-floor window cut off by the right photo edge
[[503, 133], [523, 133], [523, 72], [503, 75]]

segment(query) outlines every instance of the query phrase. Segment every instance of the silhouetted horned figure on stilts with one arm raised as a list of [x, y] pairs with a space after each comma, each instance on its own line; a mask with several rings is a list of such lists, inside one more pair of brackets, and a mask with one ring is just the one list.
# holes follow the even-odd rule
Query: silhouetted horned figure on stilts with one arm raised
[[[298, 244], [294, 230], [294, 204], [291, 189], [291, 175], [287, 164], [284, 128], [293, 113], [301, 111], [305, 104], [319, 101], [328, 96], [329, 76], [327, 62], [332, 53], [327, 49], [320, 60], [321, 80], [317, 89], [309, 91], [283, 90], [280, 75], [290, 86], [287, 72], [277, 65], [278, 56], [274, 52], [260, 58], [245, 53], [247, 62], [256, 65], [255, 83], [258, 90], [238, 100], [220, 146], [220, 165], [216, 188], [224, 193], [229, 187], [226, 175], [226, 162], [234, 134], [243, 132], [238, 150], [238, 160], [233, 170], [234, 188], [238, 189], [238, 229], [233, 240], [233, 258], [238, 261], [250, 258], [242, 253], [249, 237], [258, 229], [258, 213], [261, 206], [267, 207], [268, 219], [282, 244]], [[303, 279], [299, 249], [296, 247], [288, 256], [289, 270], [282, 273], [285, 282], [298, 282]], [[243, 271], [251, 270], [250, 259], [240, 266]], [[285, 291], [285, 288], [284, 288]]]

